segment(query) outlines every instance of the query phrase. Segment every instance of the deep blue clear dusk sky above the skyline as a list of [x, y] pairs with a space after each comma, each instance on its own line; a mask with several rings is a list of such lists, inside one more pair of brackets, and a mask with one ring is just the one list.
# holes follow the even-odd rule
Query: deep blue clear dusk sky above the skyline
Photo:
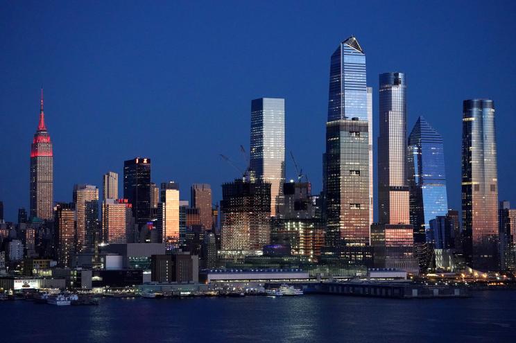
[[[497, 109], [499, 197], [516, 205], [516, 6], [513, 1], [0, 1], [0, 200], [28, 206], [29, 153], [40, 86], [54, 144], [55, 201], [96, 184], [123, 160], [153, 161], [153, 181], [239, 176], [250, 100], [286, 98], [289, 150], [320, 191], [329, 57], [355, 35], [378, 75], [403, 71], [408, 132], [423, 114], [445, 141], [449, 205], [461, 203], [466, 98]], [[376, 151], [376, 147], [375, 147]], [[376, 161], [375, 161], [376, 173]], [[376, 188], [376, 187], [375, 187]], [[121, 185], [120, 185], [121, 189]]]

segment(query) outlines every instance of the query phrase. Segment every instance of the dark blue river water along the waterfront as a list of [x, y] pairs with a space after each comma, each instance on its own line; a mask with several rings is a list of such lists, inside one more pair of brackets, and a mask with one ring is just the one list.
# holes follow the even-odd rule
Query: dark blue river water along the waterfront
[[516, 342], [516, 292], [0, 302], [0, 342]]

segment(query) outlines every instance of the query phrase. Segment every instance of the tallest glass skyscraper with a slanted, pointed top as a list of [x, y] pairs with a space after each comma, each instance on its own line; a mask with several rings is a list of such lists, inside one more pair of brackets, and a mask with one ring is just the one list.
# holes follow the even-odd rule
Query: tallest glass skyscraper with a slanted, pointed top
[[332, 55], [329, 70], [323, 200], [326, 245], [356, 250], [369, 245], [370, 101], [365, 54], [350, 37]]

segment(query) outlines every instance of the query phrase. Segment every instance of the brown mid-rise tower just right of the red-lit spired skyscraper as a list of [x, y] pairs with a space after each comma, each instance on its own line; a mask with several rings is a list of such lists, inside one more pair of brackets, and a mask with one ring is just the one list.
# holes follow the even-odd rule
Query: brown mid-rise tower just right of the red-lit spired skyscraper
[[58, 202], [54, 208], [55, 245], [58, 265], [71, 267], [71, 258], [76, 254], [76, 225], [74, 203]]

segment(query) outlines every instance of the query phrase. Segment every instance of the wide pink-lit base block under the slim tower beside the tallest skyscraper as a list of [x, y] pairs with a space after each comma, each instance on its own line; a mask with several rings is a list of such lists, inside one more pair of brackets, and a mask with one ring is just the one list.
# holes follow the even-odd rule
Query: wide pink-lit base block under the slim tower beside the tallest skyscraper
[[395, 268], [419, 274], [418, 259], [414, 256], [412, 225], [371, 225], [371, 245], [375, 252], [375, 267]]

